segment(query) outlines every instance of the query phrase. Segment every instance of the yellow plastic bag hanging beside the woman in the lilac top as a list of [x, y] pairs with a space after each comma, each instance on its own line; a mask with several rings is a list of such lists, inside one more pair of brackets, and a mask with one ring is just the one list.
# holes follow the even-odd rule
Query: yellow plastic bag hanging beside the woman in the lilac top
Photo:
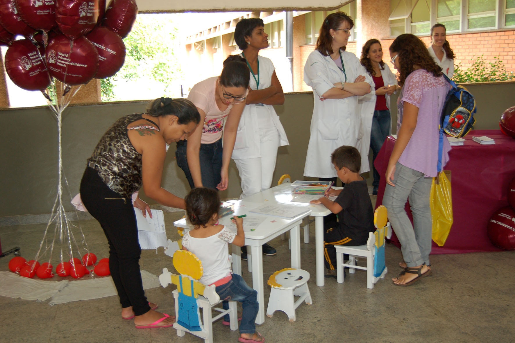
[[433, 219], [433, 241], [443, 246], [453, 222], [451, 171], [443, 170], [433, 178], [430, 193], [431, 217]]

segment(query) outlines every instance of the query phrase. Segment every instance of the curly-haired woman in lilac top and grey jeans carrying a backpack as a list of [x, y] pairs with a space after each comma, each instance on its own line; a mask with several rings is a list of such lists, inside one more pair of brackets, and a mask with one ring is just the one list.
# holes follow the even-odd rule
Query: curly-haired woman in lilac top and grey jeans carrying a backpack
[[[431, 275], [432, 220], [429, 193], [437, 176], [438, 124], [449, 90], [441, 68], [424, 43], [405, 33], [390, 45], [390, 57], [399, 71], [402, 87], [397, 100], [397, 141], [386, 169], [383, 204], [399, 242], [404, 270], [393, 283], [408, 286]], [[449, 142], [443, 140], [442, 165], [449, 159]], [[413, 223], [404, 210], [409, 198]]]

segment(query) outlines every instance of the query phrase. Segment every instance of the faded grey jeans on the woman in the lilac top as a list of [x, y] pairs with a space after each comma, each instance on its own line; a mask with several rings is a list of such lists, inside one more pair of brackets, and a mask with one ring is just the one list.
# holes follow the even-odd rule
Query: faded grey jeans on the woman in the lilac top
[[[401, 243], [402, 256], [408, 267], [430, 265], [432, 219], [429, 203], [431, 181], [424, 173], [396, 164], [393, 183], [386, 184], [383, 205], [388, 210], [388, 219]], [[404, 209], [409, 199], [413, 225]]]

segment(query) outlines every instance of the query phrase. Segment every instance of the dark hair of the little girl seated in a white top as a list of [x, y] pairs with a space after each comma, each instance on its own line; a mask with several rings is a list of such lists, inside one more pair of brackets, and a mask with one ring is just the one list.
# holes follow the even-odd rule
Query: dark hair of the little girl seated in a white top
[[213, 214], [220, 209], [220, 196], [213, 188], [193, 188], [184, 198], [187, 219], [194, 226], [207, 227]]

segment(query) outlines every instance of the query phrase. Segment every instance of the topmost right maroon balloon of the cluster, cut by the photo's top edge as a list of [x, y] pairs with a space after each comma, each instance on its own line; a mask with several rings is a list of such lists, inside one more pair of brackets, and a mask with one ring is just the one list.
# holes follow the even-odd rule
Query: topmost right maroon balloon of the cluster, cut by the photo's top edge
[[125, 38], [136, 20], [136, 15], [138, 15], [138, 5], [134, 0], [111, 0], [102, 25]]

